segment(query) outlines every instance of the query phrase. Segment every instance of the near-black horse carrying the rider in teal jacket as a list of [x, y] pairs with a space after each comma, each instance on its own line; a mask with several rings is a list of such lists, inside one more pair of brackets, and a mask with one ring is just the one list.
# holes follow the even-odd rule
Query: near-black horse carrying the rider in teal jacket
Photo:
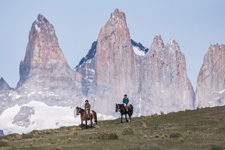
[[123, 115], [125, 115], [126, 121], [127, 120], [127, 114], [129, 115], [129, 122], [131, 121], [131, 116], [133, 114], [133, 106], [130, 104], [128, 106], [128, 111], [126, 110], [124, 104], [116, 104], [116, 112], [120, 111], [121, 114], [121, 123], [123, 123]]

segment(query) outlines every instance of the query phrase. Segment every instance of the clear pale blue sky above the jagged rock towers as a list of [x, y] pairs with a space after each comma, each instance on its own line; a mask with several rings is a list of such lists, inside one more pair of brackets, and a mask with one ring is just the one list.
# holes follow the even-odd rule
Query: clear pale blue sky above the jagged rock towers
[[0, 0], [0, 77], [16, 87], [38, 14], [53, 24], [60, 48], [74, 68], [118, 8], [126, 14], [136, 42], [150, 48], [156, 35], [162, 36], [164, 44], [170, 39], [178, 42], [195, 89], [209, 46], [225, 44], [224, 7], [224, 0]]

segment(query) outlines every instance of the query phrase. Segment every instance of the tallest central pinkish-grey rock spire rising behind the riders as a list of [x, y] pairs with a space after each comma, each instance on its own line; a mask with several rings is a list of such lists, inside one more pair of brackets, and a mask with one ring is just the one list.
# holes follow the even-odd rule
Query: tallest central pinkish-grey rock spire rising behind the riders
[[116, 9], [100, 30], [95, 53], [77, 72], [95, 110], [112, 114], [115, 102], [121, 102], [125, 93], [133, 93], [134, 87], [134, 52], [123, 12]]

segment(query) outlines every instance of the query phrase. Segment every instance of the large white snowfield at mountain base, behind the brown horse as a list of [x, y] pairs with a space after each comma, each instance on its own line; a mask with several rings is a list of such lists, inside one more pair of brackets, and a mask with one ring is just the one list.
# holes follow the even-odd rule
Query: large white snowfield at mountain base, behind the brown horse
[[[29, 107], [32, 108], [34, 113], [29, 116], [29, 123], [26, 122], [26, 126], [21, 126], [20, 124], [14, 124], [17, 114], [20, 112], [21, 108]], [[43, 102], [31, 101], [24, 105], [15, 105], [6, 109], [0, 116], [0, 129], [4, 133], [28, 133], [32, 130], [42, 130], [42, 129], [54, 129], [61, 126], [72, 126], [79, 125], [80, 116], [77, 116], [74, 112], [73, 107], [61, 107], [61, 106], [48, 106]], [[115, 119], [112, 116], [106, 116], [98, 114], [98, 120], [108, 120]]]

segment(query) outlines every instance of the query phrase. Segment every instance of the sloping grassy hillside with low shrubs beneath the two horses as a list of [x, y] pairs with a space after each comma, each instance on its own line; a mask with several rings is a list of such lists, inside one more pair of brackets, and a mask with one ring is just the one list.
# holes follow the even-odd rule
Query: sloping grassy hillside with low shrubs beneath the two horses
[[[119, 116], [119, 113], [118, 113]], [[225, 147], [225, 107], [100, 121], [0, 137], [0, 150], [220, 150]]]

